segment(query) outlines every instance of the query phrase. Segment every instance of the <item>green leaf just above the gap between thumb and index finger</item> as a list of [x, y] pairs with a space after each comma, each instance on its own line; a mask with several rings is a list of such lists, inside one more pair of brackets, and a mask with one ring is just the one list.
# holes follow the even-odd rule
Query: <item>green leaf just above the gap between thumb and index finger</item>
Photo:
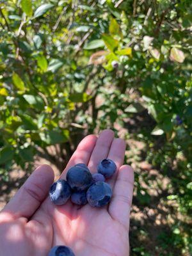
[[54, 145], [56, 143], [63, 143], [68, 141], [69, 131], [64, 129], [62, 131], [45, 131], [40, 132], [40, 138], [42, 141], [49, 145]]

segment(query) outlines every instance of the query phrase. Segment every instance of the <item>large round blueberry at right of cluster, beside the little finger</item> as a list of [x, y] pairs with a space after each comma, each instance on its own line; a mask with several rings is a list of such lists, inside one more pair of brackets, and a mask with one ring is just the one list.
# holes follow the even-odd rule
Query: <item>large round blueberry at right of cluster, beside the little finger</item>
[[101, 207], [108, 204], [111, 196], [111, 187], [103, 181], [97, 181], [86, 192], [88, 203], [93, 207]]

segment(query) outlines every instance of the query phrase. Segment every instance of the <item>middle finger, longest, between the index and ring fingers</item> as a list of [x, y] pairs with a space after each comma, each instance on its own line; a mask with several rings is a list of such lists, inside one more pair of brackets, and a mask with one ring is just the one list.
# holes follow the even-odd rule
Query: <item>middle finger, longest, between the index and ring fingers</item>
[[109, 129], [100, 132], [88, 164], [91, 172], [97, 172], [99, 162], [108, 156], [113, 138], [114, 132]]

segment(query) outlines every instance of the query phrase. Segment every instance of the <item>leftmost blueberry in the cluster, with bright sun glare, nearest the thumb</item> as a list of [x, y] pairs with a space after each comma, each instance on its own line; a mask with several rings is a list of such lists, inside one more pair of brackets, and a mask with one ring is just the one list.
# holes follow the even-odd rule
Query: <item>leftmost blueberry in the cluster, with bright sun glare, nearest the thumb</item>
[[49, 189], [51, 201], [56, 205], [65, 204], [70, 198], [72, 191], [66, 180], [57, 180]]

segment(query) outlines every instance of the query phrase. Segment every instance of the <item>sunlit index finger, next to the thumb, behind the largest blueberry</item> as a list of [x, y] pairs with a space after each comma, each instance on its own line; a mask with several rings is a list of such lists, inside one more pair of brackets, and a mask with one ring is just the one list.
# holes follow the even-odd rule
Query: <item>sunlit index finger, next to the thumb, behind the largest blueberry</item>
[[92, 155], [93, 148], [95, 147], [95, 143], [97, 141], [97, 136], [88, 135], [86, 136], [78, 145], [76, 151], [70, 158], [65, 170], [61, 174], [61, 179], [65, 179], [67, 170], [74, 166], [77, 163], [88, 164], [90, 160], [90, 156]]

